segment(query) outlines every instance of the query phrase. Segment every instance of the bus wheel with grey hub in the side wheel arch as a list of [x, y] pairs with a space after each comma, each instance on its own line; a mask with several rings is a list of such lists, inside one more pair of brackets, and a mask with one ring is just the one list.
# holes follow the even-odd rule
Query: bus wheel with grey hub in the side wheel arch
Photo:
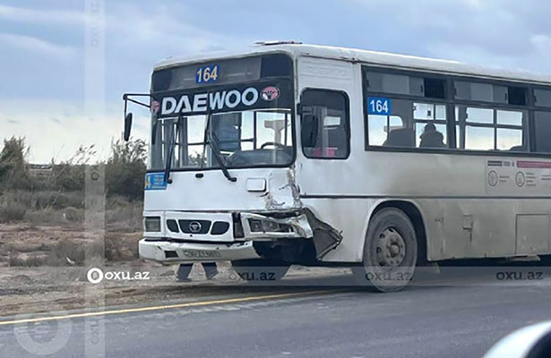
[[418, 261], [415, 227], [400, 209], [386, 208], [369, 220], [361, 267], [352, 268], [357, 281], [376, 292], [408, 286]]

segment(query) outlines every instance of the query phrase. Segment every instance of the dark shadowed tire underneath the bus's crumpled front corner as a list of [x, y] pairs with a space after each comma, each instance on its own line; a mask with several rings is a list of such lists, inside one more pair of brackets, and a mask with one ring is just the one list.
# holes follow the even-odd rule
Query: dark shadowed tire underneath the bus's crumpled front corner
[[287, 263], [278, 260], [236, 260], [231, 261], [231, 266], [237, 276], [249, 282], [279, 281], [289, 268]]

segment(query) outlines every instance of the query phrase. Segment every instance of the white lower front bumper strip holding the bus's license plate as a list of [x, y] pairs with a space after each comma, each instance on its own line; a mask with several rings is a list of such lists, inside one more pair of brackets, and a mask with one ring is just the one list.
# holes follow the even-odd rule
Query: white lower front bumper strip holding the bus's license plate
[[242, 243], [174, 243], [142, 239], [140, 257], [158, 262], [200, 262], [259, 259], [252, 241]]

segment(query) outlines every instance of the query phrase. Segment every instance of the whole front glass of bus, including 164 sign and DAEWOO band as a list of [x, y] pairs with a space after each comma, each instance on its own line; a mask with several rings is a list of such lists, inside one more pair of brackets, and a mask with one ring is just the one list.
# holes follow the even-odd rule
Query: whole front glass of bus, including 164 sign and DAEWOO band
[[290, 165], [292, 88], [282, 54], [153, 72], [150, 170]]

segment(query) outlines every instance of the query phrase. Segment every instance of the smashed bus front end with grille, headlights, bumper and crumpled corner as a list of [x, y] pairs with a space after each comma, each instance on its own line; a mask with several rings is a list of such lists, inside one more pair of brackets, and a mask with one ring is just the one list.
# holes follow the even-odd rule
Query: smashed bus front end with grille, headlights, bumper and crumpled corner
[[[318, 220], [308, 209], [266, 215], [249, 212], [155, 214], [160, 215], [166, 226], [157, 234], [145, 232], [139, 252], [142, 259], [158, 262], [259, 259], [263, 252], [259, 253], [254, 243], [269, 243], [273, 247], [292, 244], [292, 239], [313, 240], [319, 260], [342, 240], [339, 232]], [[228, 229], [220, 234], [216, 226]], [[192, 229], [198, 232], [190, 233]]]

